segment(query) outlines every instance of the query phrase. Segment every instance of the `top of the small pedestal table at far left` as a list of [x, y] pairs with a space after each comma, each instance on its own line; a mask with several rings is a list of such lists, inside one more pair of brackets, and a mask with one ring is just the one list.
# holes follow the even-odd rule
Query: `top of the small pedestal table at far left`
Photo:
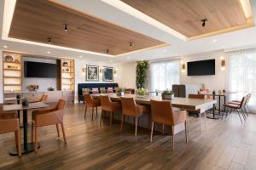
[[28, 106], [22, 106], [21, 104], [15, 105], [3, 105], [3, 111], [22, 111], [22, 110], [29, 110], [29, 109], [39, 109], [49, 107], [49, 105], [44, 104], [43, 102], [37, 103], [30, 103]]

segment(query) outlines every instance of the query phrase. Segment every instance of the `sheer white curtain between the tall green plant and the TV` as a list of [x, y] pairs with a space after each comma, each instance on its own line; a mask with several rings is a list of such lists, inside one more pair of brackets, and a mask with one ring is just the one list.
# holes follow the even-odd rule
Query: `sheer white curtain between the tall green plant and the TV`
[[150, 90], [172, 89], [180, 79], [180, 60], [168, 60], [150, 63]]

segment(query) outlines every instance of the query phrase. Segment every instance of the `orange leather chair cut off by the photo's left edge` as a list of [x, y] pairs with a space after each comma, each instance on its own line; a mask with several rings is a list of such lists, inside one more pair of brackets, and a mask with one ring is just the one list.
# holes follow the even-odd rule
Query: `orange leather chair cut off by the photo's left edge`
[[15, 112], [0, 111], [0, 134], [15, 132], [18, 155], [21, 156], [20, 123]]

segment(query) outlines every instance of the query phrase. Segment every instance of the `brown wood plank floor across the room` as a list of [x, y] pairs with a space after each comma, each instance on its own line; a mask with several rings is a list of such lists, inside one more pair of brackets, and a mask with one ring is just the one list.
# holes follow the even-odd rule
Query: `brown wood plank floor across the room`
[[[100, 114], [84, 120], [84, 105], [68, 105], [65, 115], [67, 145], [57, 139], [55, 126], [39, 129], [41, 148], [26, 156], [9, 156], [15, 146], [13, 133], [0, 135], [0, 169], [256, 169], [256, 115], [249, 115], [245, 126], [234, 113], [224, 122], [207, 119], [199, 133], [197, 117], [189, 117], [189, 142], [184, 133], [175, 137], [160, 133], [149, 142], [149, 130], [120, 122], [100, 126]], [[203, 124], [203, 119], [202, 119]], [[31, 130], [31, 129], [29, 129]], [[29, 138], [30, 139], [30, 138]]]

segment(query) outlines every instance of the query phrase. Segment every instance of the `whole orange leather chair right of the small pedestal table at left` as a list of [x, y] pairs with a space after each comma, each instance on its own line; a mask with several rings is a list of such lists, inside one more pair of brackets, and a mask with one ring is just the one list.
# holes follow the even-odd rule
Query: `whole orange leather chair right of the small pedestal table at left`
[[35, 150], [38, 150], [38, 127], [48, 125], [56, 125], [58, 137], [60, 137], [58, 124], [61, 124], [63, 139], [65, 144], [67, 144], [66, 134], [63, 126], [63, 116], [66, 104], [66, 100], [60, 99], [54, 108], [32, 112], [32, 142], [35, 143]]

